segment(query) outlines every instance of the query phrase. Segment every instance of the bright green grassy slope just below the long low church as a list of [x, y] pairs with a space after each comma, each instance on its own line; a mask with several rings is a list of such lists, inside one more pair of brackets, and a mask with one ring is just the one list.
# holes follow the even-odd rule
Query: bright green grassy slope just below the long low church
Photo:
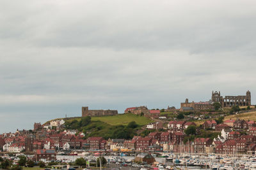
[[[65, 118], [63, 120], [65, 120]], [[81, 117], [68, 118], [65, 121], [72, 122], [73, 120], [80, 121]], [[148, 123], [153, 122], [152, 120], [150, 120], [150, 118], [140, 117], [132, 113], [118, 114], [116, 116], [108, 116], [108, 117], [92, 117], [92, 121], [100, 121], [109, 125], [127, 125], [129, 124], [129, 122], [132, 122], [132, 121], [135, 121], [138, 125], [147, 125]]]

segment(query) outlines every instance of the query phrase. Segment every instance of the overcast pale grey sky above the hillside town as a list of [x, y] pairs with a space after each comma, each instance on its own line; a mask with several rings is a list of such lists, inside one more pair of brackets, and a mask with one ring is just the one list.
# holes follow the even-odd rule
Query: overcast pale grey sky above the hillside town
[[0, 133], [81, 107], [252, 93], [256, 1], [0, 1]]

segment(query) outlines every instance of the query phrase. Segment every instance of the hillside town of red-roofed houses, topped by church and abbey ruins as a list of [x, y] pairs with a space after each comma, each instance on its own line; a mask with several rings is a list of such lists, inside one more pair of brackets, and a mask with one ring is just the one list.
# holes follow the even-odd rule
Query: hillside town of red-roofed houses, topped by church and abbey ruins
[[[35, 122], [31, 130], [17, 129], [1, 134], [0, 153], [4, 157], [14, 153], [30, 155], [29, 159], [45, 163], [70, 161], [58, 155], [84, 157], [119, 153], [134, 155], [134, 161], [146, 153], [147, 157], [167, 155], [173, 162], [171, 153], [242, 157], [255, 155], [255, 114], [250, 91], [245, 96], [225, 97], [212, 91], [211, 100], [189, 103], [186, 99], [179, 109], [168, 106], [148, 110], [147, 106], [138, 106], [118, 114], [117, 110], [89, 110], [86, 106], [82, 107], [82, 117], [56, 118], [45, 124]], [[132, 121], [126, 125], [106, 123], [114, 118], [125, 121], [128, 117]], [[105, 124], [106, 127], [102, 126]], [[100, 135], [101, 131], [104, 135]], [[153, 157], [147, 163], [154, 162]]]

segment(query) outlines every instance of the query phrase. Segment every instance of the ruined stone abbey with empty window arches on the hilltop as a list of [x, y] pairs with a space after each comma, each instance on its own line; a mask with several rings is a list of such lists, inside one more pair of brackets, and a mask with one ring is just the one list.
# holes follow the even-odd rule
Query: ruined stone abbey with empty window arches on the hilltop
[[212, 102], [220, 102], [221, 107], [251, 106], [251, 92], [248, 90], [246, 96], [220, 96], [220, 92], [212, 91]]

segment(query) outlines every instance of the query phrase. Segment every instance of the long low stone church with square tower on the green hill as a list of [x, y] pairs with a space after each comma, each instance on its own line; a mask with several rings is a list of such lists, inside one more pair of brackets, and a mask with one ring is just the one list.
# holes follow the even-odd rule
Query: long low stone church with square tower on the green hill
[[117, 115], [117, 110], [89, 110], [88, 107], [82, 107], [82, 117], [102, 117]]

